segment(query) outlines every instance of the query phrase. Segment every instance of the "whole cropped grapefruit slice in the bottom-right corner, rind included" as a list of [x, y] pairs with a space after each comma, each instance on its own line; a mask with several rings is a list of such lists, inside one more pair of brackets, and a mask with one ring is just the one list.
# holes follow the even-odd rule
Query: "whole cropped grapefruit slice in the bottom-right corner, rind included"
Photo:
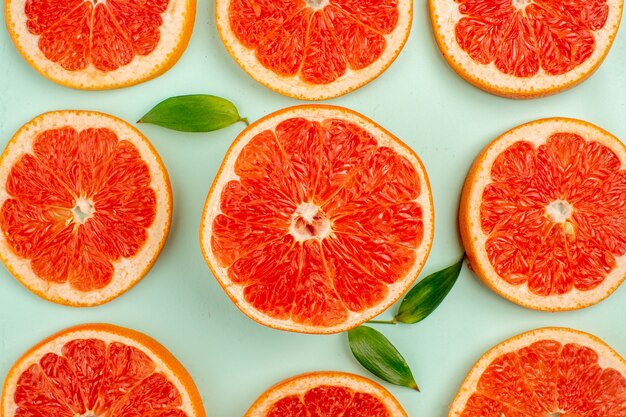
[[449, 417], [601, 417], [626, 413], [626, 361], [566, 328], [517, 335], [474, 365]]

